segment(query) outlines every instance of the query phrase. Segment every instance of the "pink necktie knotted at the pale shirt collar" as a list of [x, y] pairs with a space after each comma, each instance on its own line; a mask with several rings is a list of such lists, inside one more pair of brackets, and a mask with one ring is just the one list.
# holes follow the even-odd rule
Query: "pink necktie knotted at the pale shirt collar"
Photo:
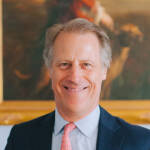
[[76, 127], [75, 124], [72, 122], [65, 125], [64, 134], [62, 136], [62, 142], [61, 142], [61, 150], [72, 150], [70, 139], [69, 139], [69, 133], [75, 127]]

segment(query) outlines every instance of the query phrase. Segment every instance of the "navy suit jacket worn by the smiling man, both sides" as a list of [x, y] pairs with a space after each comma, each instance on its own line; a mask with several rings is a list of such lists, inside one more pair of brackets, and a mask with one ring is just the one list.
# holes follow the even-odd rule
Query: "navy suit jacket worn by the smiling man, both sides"
[[[55, 112], [15, 125], [5, 150], [51, 150]], [[101, 108], [96, 150], [150, 150], [150, 130]]]

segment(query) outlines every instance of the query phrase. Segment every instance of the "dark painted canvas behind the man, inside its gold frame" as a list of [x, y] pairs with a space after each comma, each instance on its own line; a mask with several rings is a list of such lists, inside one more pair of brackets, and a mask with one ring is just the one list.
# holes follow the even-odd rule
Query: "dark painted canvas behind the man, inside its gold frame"
[[2, 0], [4, 100], [54, 99], [42, 57], [45, 32], [76, 17], [110, 37], [112, 63], [101, 99], [150, 99], [149, 6], [149, 0]]

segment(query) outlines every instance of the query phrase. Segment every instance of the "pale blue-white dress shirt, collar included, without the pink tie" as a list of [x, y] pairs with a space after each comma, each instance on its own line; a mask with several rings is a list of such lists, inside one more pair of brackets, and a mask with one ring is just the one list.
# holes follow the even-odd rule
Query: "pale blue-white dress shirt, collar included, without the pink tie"
[[[74, 122], [76, 128], [69, 136], [72, 150], [96, 150], [99, 119], [100, 107], [97, 106], [88, 116]], [[60, 150], [64, 126], [67, 123], [56, 109], [52, 150]]]

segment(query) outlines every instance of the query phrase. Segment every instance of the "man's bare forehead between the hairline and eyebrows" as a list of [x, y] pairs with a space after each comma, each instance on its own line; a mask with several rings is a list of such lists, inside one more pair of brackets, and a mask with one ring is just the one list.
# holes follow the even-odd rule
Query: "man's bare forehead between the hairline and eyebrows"
[[53, 48], [54, 58], [95, 59], [100, 53], [99, 40], [92, 32], [62, 32], [57, 36]]

